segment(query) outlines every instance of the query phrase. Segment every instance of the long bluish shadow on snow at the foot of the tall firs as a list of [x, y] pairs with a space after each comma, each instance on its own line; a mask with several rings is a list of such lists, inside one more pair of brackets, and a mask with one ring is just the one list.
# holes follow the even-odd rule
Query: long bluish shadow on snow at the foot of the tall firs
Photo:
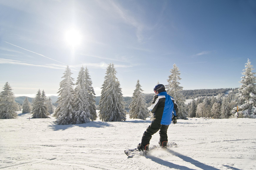
[[49, 125], [50, 128], [52, 128], [53, 130], [66, 130], [68, 128], [72, 128], [72, 127], [81, 127], [81, 128], [86, 128], [86, 127], [94, 127], [94, 128], [104, 128], [104, 127], [111, 127], [112, 125], [109, 124], [108, 122], [89, 122], [86, 124], [75, 124], [75, 125], [56, 125], [56, 124], [52, 124]]

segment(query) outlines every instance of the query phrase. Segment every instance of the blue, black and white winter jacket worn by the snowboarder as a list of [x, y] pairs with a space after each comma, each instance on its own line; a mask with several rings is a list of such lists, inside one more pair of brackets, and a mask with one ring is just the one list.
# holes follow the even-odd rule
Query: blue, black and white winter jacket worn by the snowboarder
[[167, 94], [166, 91], [154, 96], [151, 113], [154, 114], [153, 121], [161, 125], [170, 125], [172, 122], [172, 114], [178, 116], [178, 105], [174, 99]]

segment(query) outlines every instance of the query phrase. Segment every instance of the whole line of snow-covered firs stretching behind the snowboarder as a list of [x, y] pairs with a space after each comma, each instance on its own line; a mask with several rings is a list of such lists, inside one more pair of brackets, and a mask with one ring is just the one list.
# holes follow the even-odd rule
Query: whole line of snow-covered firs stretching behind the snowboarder
[[[204, 118], [256, 118], [256, 77], [252, 72], [253, 65], [248, 59], [245, 63], [245, 69], [242, 72], [242, 84], [238, 89], [231, 89], [230, 93], [225, 96], [224, 92], [229, 89], [200, 89], [184, 91], [179, 86], [180, 71], [176, 64], [170, 70], [166, 85], [167, 93], [172, 96], [179, 106], [179, 119], [187, 119], [187, 117], [204, 117]], [[58, 125], [80, 124], [94, 121], [96, 115], [96, 101], [94, 89], [91, 86], [92, 81], [87, 68], [81, 67], [76, 84], [71, 77], [69, 66], [65, 69], [60, 82], [58, 106], [55, 109]], [[159, 82], [158, 82], [159, 84]], [[73, 86], [76, 87], [73, 89]], [[123, 97], [120, 82], [116, 77], [114, 64], [109, 64], [106, 69], [106, 76], [102, 85], [99, 105], [99, 118], [102, 121], [125, 121], [128, 109], [130, 109], [130, 117], [137, 119], [145, 119], [149, 113], [146, 111], [153, 99], [153, 94], [143, 94], [139, 80], [135, 86], [133, 96]], [[4, 91], [0, 93], [0, 118], [12, 119], [17, 117], [15, 111], [18, 105], [14, 101], [14, 94], [8, 82], [6, 82]], [[185, 93], [184, 93], [185, 92]], [[185, 98], [194, 95], [205, 94], [193, 99], [191, 103], [185, 105]], [[219, 93], [214, 97], [215, 93]], [[186, 97], [185, 97], [185, 95]], [[213, 96], [208, 96], [212, 94]], [[188, 95], [188, 96], [187, 96]], [[125, 102], [127, 101], [127, 102]], [[48, 118], [50, 113], [48, 100], [44, 91], [39, 90], [32, 104], [32, 118]], [[28, 112], [27, 99], [23, 104], [23, 112]], [[25, 107], [26, 106], [26, 107]], [[236, 114], [238, 107], [238, 115]]]

